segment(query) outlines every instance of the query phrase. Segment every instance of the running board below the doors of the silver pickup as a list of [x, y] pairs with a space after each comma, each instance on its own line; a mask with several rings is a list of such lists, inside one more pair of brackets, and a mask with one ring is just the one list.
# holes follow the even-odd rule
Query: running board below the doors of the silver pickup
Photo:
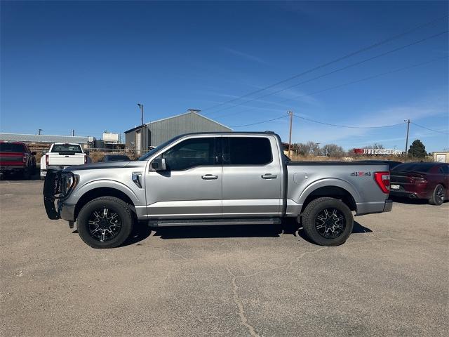
[[280, 218], [243, 219], [190, 219], [190, 220], [149, 220], [149, 227], [175, 226], [216, 226], [216, 225], [279, 225]]

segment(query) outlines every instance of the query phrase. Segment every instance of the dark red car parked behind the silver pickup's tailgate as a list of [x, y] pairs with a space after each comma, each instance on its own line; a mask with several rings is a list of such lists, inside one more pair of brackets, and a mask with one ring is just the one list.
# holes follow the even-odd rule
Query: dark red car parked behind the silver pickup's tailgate
[[449, 164], [404, 163], [390, 173], [390, 195], [427, 199], [441, 205], [449, 197]]

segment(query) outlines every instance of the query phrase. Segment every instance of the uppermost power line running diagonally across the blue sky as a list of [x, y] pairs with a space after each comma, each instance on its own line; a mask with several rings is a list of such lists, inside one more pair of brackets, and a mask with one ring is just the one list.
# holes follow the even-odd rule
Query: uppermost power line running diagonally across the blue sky
[[445, 18], [448, 18], [448, 16], [449, 16], [449, 15], [444, 15], [443, 17], [436, 18], [435, 20], [431, 20], [431, 21], [426, 22], [426, 23], [424, 23], [424, 24], [422, 24], [422, 25], [419, 25], [419, 26], [417, 26], [417, 27], [414, 27], [414, 28], [412, 28], [412, 29], [409, 29], [409, 30], [406, 31], [406, 32], [402, 32], [401, 34], [394, 35], [393, 37], [389, 37], [389, 38], [384, 39], [384, 40], [382, 40], [382, 41], [376, 42], [375, 44], [372, 44], [372, 45], [370, 45], [370, 46], [363, 47], [363, 48], [361, 48], [361, 49], [358, 49], [357, 51], [351, 52], [351, 53], [349, 53], [349, 54], [347, 54], [347, 55], [344, 55], [344, 56], [342, 56], [342, 57], [340, 57], [340, 58], [336, 58], [335, 60], [331, 60], [331, 61], [329, 61], [329, 62], [323, 63], [322, 65], [318, 65], [318, 66], [316, 66], [316, 67], [314, 67], [314, 68], [311, 68], [311, 69], [309, 69], [309, 70], [306, 70], [306, 71], [304, 71], [304, 72], [301, 72], [300, 74], [296, 74], [296, 75], [294, 75], [294, 76], [292, 76], [292, 77], [288, 77], [288, 79], [283, 79], [283, 80], [281, 80], [281, 81], [278, 81], [278, 82], [276, 82], [276, 83], [274, 83], [274, 84], [271, 84], [271, 85], [269, 85], [269, 86], [266, 86], [266, 87], [264, 87], [264, 88], [260, 88], [260, 89], [258, 89], [258, 90], [256, 90], [256, 91], [252, 91], [252, 92], [250, 92], [250, 93], [246, 93], [245, 95], [242, 95], [242, 96], [240, 96], [240, 97], [238, 97], [238, 98], [233, 98], [232, 100], [227, 100], [227, 101], [225, 101], [225, 102], [222, 102], [222, 103], [219, 103], [219, 104], [216, 104], [216, 105], [212, 105], [212, 106], [210, 106], [210, 107], [206, 107], [206, 108], [203, 109], [202, 111], [204, 112], [204, 111], [206, 111], [206, 110], [214, 109], [215, 107], [220, 107], [220, 106], [222, 106], [222, 105], [226, 105], [227, 103], [235, 102], [236, 100], [241, 100], [241, 98], [246, 98], [246, 97], [248, 97], [248, 96], [250, 96], [250, 95], [253, 95], [253, 94], [255, 94], [255, 93], [260, 93], [261, 91], [265, 91], [265, 90], [267, 90], [267, 89], [269, 89], [269, 88], [273, 88], [274, 86], [277, 86], [277, 85], [279, 85], [279, 84], [285, 83], [285, 82], [290, 81], [290, 80], [292, 80], [292, 79], [295, 79], [295, 78], [297, 78], [297, 77], [301, 77], [301, 76], [304, 76], [305, 74], [309, 74], [310, 72], [314, 72], [315, 70], [319, 70], [319, 69], [321, 69], [321, 68], [323, 68], [323, 67], [327, 67], [328, 65], [332, 65], [333, 63], [340, 62], [341, 60], [345, 60], [345, 59], [347, 59], [347, 58], [350, 58], [351, 56], [357, 55], [357, 54], [359, 54], [359, 53], [363, 53], [364, 51], [369, 51], [370, 49], [373, 49], [373, 48], [375, 48], [375, 47], [377, 47], [377, 46], [382, 46], [382, 44], [386, 44], [386, 43], [388, 43], [388, 42], [390, 42], [390, 41], [394, 41], [395, 39], [399, 39], [400, 37], [403, 37], [403, 36], [405, 36], [405, 35], [407, 35], [407, 34], [410, 34], [410, 33], [412, 33], [412, 32], [415, 32], [417, 29], [421, 29], [421, 28], [423, 28], [423, 27], [427, 27], [427, 26], [429, 26], [429, 25], [432, 25], [432, 24], [434, 24], [435, 22], [438, 22], [438, 21], [440, 21], [440, 20], [443, 20], [443, 19], [445, 19]]

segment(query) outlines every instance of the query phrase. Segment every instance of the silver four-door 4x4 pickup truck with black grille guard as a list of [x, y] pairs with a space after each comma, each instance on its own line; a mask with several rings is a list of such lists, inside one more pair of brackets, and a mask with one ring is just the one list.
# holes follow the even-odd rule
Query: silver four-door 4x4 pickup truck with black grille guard
[[[281, 224], [297, 218], [319, 245], [342, 244], [354, 219], [391, 211], [387, 164], [296, 162], [264, 133], [189, 133], [138, 161], [48, 171], [48, 218], [94, 248], [121, 245], [133, 225]], [[57, 202], [55, 202], [57, 201]]]

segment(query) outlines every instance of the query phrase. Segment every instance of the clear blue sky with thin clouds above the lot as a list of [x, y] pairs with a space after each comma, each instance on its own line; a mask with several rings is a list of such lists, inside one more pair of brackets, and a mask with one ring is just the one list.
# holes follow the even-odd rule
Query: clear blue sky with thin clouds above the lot
[[[326, 75], [448, 30], [448, 19], [236, 100], [305, 70], [448, 15], [447, 1], [1, 2], [0, 131], [96, 136], [203, 110], [227, 126], [295, 114], [330, 124], [384, 126], [410, 118], [449, 131], [448, 34]], [[428, 62], [429, 61], [429, 62]], [[340, 86], [403, 67], [406, 70]], [[323, 76], [319, 79], [314, 77]], [[307, 82], [300, 84], [300, 82]], [[300, 84], [294, 86], [295, 84]], [[294, 86], [268, 95], [273, 91]], [[326, 88], [339, 88], [309, 95]], [[264, 98], [259, 98], [267, 95]], [[249, 101], [250, 100], [250, 101]], [[237, 106], [233, 106], [239, 104]], [[273, 130], [288, 119], [236, 131]], [[403, 149], [406, 125], [339, 128], [294, 119], [293, 141]], [[428, 151], [447, 133], [410, 126]]]

